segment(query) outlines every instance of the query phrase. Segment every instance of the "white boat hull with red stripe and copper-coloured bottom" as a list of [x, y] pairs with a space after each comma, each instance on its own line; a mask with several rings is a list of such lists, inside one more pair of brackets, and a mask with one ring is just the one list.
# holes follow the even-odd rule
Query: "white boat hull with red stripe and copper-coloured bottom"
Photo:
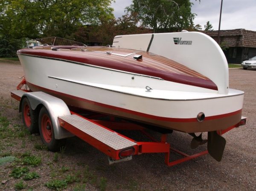
[[[18, 54], [32, 91], [60, 97], [67, 105], [177, 131], [225, 129], [241, 119], [244, 92], [228, 94], [61, 59]], [[152, 88], [146, 91], [145, 87]], [[234, 104], [235, 103], [235, 104]], [[198, 122], [200, 112], [205, 115]]]

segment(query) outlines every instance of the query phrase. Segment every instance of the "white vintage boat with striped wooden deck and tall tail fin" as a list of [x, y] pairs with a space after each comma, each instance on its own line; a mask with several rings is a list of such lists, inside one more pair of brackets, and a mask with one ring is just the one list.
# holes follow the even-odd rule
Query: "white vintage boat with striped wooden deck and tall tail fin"
[[56, 38], [17, 51], [32, 91], [187, 133], [226, 129], [241, 120], [244, 92], [228, 87], [227, 60], [205, 34], [122, 35], [106, 47], [52, 42]]

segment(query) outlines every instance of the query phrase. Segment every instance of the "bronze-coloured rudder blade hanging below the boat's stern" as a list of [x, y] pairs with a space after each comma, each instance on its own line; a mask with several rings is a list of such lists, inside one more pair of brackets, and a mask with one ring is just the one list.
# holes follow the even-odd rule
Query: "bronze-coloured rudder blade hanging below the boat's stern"
[[207, 149], [209, 154], [217, 161], [221, 161], [226, 140], [217, 131], [208, 132]]

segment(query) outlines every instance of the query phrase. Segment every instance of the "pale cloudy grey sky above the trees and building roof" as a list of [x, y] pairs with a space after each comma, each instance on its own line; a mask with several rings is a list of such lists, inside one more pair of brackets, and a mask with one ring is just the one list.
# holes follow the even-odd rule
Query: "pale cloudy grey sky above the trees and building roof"
[[[207, 21], [218, 30], [221, 0], [190, 0], [192, 13], [195, 16], [194, 24], [200, 24], [202, 29]], [[112, 3], [114, 15], [121, 17], [125, 7], [131, 4], [132, 0], [116, 0]], [[221, 30], [227, 29], [246, 29], [256, 31], [256, 0], [223, 0], [221, 14]]]

